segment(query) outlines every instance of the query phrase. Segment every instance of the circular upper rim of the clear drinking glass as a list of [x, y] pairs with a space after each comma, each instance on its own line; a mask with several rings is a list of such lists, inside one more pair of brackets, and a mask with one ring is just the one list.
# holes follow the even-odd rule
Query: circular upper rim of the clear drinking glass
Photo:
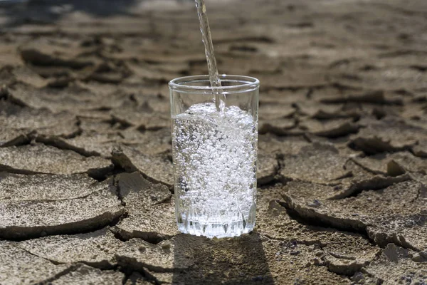
[[[223, 74], [219, 76], [221, 81], [235, 82], [240, 83], [233, 86], [222, 86], [221, 90], [223, 93], [245, 93], [249, 91], [256, 90], [260, 87], [260, 81], [257, 78], [251, 76], [236, 76]], [[199, 76], [184, 76], [179, 78], [174, 78], [172, 81], [169, 81], [169, 89], [176, 90], [182, 93], [203, 93], [212, 94], [218, 87], [212, 87], [210, 84], [206, 86], [192, 86], [188, 83], [194, 82], [206, 82], [209, 83], [208, 75], [199, 75]]]

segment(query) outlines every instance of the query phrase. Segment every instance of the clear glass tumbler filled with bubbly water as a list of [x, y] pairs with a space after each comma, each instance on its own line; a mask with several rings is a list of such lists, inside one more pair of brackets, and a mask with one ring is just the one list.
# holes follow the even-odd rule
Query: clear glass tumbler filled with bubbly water
[[259, 81], [226, 75], [221, 86], [216, 104], [208, 76], [169, 83], [176, 222], [211, 238], [255, 226]]

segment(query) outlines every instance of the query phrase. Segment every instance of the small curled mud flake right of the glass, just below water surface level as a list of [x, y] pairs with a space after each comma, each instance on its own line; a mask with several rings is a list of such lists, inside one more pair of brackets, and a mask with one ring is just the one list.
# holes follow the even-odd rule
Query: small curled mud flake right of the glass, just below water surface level
[[300, 128], [308, 132], [327, 138], [337, 138], [351, 133], [357, 133], [359, 126], [351, 119], [332, 120], [304, 120]]

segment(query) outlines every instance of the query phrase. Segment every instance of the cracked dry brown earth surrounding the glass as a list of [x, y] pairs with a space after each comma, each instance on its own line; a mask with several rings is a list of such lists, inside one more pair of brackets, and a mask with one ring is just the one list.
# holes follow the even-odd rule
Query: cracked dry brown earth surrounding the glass
[[193, 3], [98, 2], [0, 10], [0, 284], [427, 284], [426, 1], [207, 1], [262, 86], [257, 225], [212, 240], [174, 220]]

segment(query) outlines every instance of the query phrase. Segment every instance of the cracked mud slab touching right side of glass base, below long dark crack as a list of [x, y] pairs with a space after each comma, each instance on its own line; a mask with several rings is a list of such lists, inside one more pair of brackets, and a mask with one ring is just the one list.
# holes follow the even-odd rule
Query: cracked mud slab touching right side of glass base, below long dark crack
[[372, 245], [361, 234], [297, 222], [282, 205], [283, 191], [282, 187], [258, 190], [256, 232], [271, 239], [287, 241], [295, 247], [295, 251], [299, 244], [321, 248], [319, 258], [325, 261], [330, 271], [337, 274], [354, 274], [379, 252], [379, 247]]

